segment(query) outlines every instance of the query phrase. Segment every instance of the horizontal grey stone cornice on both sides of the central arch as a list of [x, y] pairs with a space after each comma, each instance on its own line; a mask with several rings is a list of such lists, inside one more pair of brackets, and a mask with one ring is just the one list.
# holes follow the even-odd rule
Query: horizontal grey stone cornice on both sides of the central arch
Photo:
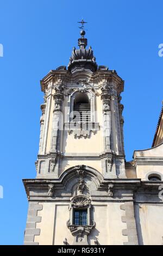
[[[65, 191], [64, 184], [59, 179], [23, 179], [24, 187], [28, 200], [37, 201], [59, 201], [70, 202], [72, 193]], [[100, 201], [126, 201], [134, 200], [135, 202], [145, 203], [161, 203], [162, 200], [158, 199], [159, 186], [163, 185], [163, 181], [141, 181], [141, 179], [104, 179], [102, 181], [103, 187], [99, 188], [103, 194], [96, 192], [91, 194], [92, 200]], [[107, 194], [108, 186], [112, 184], [114, 196], [109, 197]], [[49, 195], [49, 187], [53, 186], [54, 196]], [[60, 196], [58, 192], [60, 192]], [[55, 192], [57, 194], [55, 195]], [[146, 194], [148, 198], [141, 200], [141, 195]], [[155, 195], [155, 198], [151, 200], [150, 194]], [[135, 196], [134, 196], [135, 195]]]

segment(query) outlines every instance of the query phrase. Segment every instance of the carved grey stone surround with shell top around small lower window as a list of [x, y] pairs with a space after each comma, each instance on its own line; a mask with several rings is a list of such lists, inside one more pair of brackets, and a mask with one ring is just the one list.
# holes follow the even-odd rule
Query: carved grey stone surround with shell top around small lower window
[[[75, 225], [73, 220], [74, 209], [87, 209], [87, 224]], [[91, 199], [83, 194], [75, 196], [71, 199], [69, 206], [70, 219], [67, 221], [67, 228], [74, 236], [73, 245], [89, 245], [87, 236], [91, 230], [95, 228], [95, 222], [91, 220]]]

